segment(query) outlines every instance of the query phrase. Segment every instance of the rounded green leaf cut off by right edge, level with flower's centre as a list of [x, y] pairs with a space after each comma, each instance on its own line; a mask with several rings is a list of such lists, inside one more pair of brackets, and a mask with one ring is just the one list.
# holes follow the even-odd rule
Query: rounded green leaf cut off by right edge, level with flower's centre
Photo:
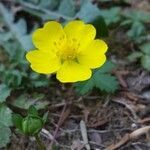
[[149, 55], [143, 55], [141, 57], [141, 64], [144, 69], [150, 71], [150, 56]]

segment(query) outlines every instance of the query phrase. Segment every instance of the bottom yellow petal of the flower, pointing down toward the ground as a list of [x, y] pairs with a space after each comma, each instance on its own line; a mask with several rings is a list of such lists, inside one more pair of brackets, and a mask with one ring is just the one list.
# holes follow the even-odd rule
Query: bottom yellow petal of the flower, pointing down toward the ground
[[91, 77], [91, 70], [75, 61], [65, 61], [57, 71], [57, 79], [61, 82], [84, 81]]

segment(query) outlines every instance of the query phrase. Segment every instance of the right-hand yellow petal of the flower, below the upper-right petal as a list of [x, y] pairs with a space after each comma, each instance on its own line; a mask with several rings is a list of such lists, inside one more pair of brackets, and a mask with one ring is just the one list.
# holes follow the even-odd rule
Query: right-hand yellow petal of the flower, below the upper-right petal
[[106, 61], [107, 44], [102, 40], [93, 40], [91, 44], [78, 54], [78, 61], [91, 69], [102, 66]]

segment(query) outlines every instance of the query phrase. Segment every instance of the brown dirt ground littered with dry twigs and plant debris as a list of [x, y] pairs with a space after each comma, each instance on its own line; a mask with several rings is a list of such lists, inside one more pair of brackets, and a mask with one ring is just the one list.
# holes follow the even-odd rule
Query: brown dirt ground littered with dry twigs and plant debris
[[[83, 120], [91, 149], [150, 149], [147, 128], [150, 127], [150, 74], [128, 68], [114, 73], [121, 89], [113, 96], [101, 95], [94, 90], [91, 94], [77, 97], [71, 85], [44, 89], [47, 99], [52, 102], [47, 108], [50, 111], [47, 124], [41, 132], [47, 146], [51, 143], [51, 134], [59, 126], [54, 141], [58, 149], [83, 149]], [[34, 150], [37, 147], [34, 138], [14, 132], [8, 149]]]

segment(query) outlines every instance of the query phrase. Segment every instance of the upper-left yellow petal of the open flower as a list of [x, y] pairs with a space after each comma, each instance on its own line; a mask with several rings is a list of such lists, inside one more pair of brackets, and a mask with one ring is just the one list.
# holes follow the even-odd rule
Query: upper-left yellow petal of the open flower
[[66, 35], [60, 23], [49, 21], [43, 28], [39, 28], [33, 33], [32, 40], [39, 49], [55, 51], [55, 44], [62, 45], [66, 40]]

